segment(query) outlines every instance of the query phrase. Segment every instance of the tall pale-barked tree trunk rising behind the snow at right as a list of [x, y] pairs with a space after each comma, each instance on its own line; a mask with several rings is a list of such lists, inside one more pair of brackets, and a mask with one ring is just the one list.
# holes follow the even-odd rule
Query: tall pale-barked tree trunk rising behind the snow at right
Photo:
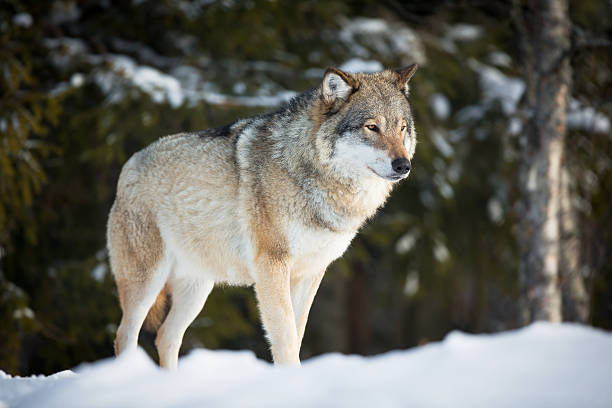
[[520, 165], [521, 296], [525, 323], [559, 322], [561, 163], [571, 68], [566, 0], [516, 5], [527, 79], [526, 140]]

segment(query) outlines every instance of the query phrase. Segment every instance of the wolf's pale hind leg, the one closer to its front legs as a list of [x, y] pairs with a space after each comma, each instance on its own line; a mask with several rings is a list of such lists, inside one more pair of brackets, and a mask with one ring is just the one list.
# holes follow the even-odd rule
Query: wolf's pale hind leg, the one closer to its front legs
[[172, 306], [164, 324], [157, 332], [155, 345], [159, 354], [159, 365], [175, 370], [178, 353], [185, 331], [198, 316], [206, 298], [213, 289], [214, 281], [193, 281], [171, 278], [168, 281]]

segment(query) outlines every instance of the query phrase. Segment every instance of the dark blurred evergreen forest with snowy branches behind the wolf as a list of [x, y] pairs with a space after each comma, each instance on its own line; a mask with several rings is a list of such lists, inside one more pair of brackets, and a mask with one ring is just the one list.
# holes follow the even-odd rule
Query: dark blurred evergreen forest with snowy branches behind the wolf
[[[411, 176], [328, 269], [302, 358], [524, 324], [521, 24], [533, 23], [519, 18], [523, 3], [0, 1], [0, 369], [48, 374], [113, 355], [120, 309], [105, 227], [130, 155], [167, 134], [274, 110], [328, 66], [418, 63], [419, 145]], [[563, 319], [608, 330], [611, 16], [611, 1], [569, 4], [573, 274], [559, 280]], [[252, 289], [216, 288], [182, 352], [194, 347], [269, 360]]]

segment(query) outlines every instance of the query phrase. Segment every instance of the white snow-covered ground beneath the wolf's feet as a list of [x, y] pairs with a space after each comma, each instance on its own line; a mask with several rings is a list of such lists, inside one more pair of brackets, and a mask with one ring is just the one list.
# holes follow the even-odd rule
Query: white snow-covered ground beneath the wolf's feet
[[49, 377], [0, 372], [0, 407], [612, 407], [612, 334], [533, 324], [376, 357], [273, 367], [197, 350], [160, 370], [141, 350]]

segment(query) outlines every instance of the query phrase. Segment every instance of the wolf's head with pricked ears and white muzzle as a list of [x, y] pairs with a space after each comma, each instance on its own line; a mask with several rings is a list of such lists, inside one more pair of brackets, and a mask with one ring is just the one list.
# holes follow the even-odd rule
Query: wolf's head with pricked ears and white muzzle
[[318, 137], [336, 171], [388, 181], [408, 176], [416, 144], [408, 81], [416, 69], [413, 64], [375, 74], [326, 71]]

